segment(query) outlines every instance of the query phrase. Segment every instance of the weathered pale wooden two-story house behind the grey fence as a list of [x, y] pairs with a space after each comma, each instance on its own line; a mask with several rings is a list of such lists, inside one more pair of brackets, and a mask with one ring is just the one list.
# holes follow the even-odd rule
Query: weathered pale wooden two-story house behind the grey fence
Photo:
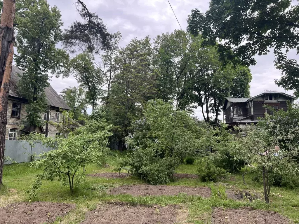
[[[9, 140], [16, 139], [16, 136], [21, 131], [19, 130], [20, 126], [25, 124], [27, 116], [26, 105], [28, 105], [28, 100], [20, 97], [17, 91], [17, 85], [20, 79], [18, 74], [22, 74], [22, 71], [16, 66], [13, 66], [7, 106], [6, 139]], [[59, 136], [60, 133], [52, 125], [48, 125], [46, 128], [46, 121], [59, 122], [62, 116], [60, 109], [70, 110], [71, 108], [68, 107], [51, 86], [45, 88], [45, 94], [49, 111], [45, 111], [44, 114], [41, 114], [42, 119], [45, 121], [45, 125], [36, 128], [35, 131], [45, 133], [46, 129], [48, 129], [47, 135], [56, 137]]]

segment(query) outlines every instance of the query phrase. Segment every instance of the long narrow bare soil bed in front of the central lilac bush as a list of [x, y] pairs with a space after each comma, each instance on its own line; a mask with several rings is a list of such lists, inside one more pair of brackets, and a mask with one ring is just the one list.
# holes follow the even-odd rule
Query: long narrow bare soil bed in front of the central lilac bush
[[211, 189], [208, 187], [184, 187], [167, 185], [124, 185], [109, 190], [110, 194], [131, 194], [133, 196], [147, 195], [176, 195], [185, 193], [187, 195], [198, 195], [210, 197]]

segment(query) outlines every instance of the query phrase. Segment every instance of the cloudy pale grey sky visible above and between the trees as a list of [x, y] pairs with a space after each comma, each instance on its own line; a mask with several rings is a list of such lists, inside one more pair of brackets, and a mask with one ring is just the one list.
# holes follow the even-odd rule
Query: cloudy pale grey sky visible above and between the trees
[[[74, 2], [76, 0], [48, 0], [50, 6], [56, 5], [60, 9], [64, 27], [68, 27], [75, 19], [80, 19]], [[91, 12], [103, 19], [110, 33], [120, 31], [123, 37], [120, 43], [122, 47], [135, 37], [144, 38], [149, 35], [154, 38], [158, 34], [180, 29], [167, 0], [83, 0], [83, 2]], [[170, 3], [184, 30], [192, 9], [198, 8], [204, 12], [209, 6], [207, 0], [170, 0]], [[294, 57], [298, 59], [298, 56], [294, 55]], [[251, 96], [258, 95], [265, 89], [285, 92], [283, 88], [277, 87], [274, 83], [274, 79], [280, 78], [280, 71], [274, 68], [273, 54], [257, 56], [256, 60], [257, 65], [250, 67], [253, 76], [250, 84]], [[70, 85], [78, 85], [72, 77], [68, 79], [54, 77], [50, 84], [58, 93]], [[293, 92], [287, 91], [286, 93], [292, 94]], [[195, 113], [196, 116], [202, 118], [199, 109]]]

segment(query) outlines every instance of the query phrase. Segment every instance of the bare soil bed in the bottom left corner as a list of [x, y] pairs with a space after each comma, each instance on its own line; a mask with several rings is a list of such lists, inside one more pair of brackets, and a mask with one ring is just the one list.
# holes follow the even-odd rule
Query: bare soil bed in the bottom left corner
[[52, 223], [56, 217], [66, 215], [75, 205], [52, 202], [20, 202], [0, 208], [0, 223], [40, 224]]

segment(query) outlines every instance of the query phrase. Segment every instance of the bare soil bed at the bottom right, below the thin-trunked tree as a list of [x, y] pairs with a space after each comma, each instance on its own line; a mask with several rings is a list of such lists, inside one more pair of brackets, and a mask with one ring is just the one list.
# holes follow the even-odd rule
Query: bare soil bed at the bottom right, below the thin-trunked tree
[[289, 224], [290, 220], [273, 211], [252, 210], [251, 208], [215, 208], [213, 224]]

